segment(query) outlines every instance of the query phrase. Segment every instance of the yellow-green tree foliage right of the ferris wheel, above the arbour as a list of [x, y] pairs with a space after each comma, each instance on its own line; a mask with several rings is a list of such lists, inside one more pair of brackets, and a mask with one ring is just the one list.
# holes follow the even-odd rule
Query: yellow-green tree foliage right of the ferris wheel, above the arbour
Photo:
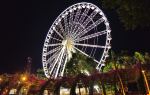
[[111, 51], [110, 57], [106, 61], [106, 65], [103, 68], [103, 72], [108, 72], [114, 69], [124, 69], [132, 68], [136, 63], [150, 64], [150, 55], [148, 53], [142, 54], [140, 52], [134, 52], [134, 54], [129, 54], [128, 52], [122, 52], [116, 54]]

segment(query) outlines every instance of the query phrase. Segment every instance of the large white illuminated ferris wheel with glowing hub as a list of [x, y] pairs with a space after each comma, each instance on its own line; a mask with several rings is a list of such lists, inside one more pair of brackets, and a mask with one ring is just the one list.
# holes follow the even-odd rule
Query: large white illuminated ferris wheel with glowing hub
[[54, 21], [45, 39], [42, 62], [46, 77], [62, 77], [66, 63], [76, 52], [92, 58], [100, 70], [111, 48], [110, 32], [105, 14], [96, 5], [81, 2], [68, 7]]

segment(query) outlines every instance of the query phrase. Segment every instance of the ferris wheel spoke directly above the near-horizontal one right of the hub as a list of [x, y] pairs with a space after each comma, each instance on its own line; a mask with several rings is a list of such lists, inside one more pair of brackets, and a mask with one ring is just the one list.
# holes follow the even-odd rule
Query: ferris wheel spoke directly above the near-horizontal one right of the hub
[[107, 33], [107, 31], [104, 30], [104, 31], [101, 31], [101, 32], [90, 34], [88, 36], [84, 36], [82, 38], [75, 39], [74, 41], [75, 42], [80, 42], [80, 41], [91, 39], [91, 38], [94, 38], [94, 37], [97, 37], [97, 36], [100, 36], [100, 35], [103, 35], [103, 34], [106, 34], [106, 33]]

